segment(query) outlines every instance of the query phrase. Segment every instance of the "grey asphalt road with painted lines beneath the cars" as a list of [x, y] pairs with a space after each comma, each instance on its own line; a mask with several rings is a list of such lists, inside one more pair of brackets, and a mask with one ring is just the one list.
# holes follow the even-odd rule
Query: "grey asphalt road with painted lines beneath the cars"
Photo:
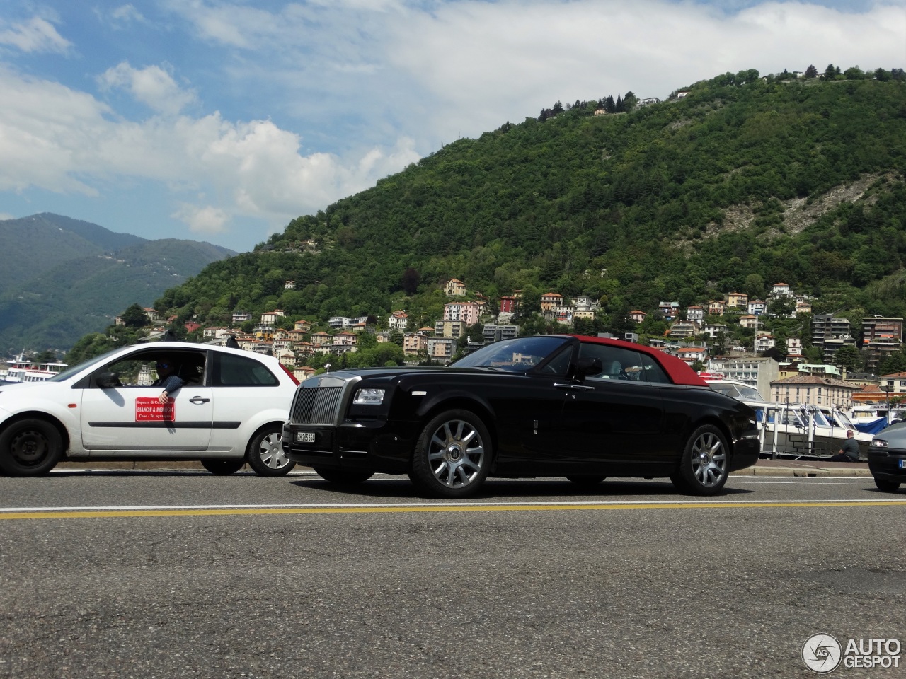
[[906, 644], [906, 493], [727, 489], [0, 478], [0, 677], [809, 677], [814, 634]]

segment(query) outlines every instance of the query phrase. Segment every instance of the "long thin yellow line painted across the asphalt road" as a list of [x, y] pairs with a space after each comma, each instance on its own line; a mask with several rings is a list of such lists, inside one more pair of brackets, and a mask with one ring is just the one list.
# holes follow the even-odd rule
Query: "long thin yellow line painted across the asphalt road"
[[236, 507], [223, 509], [91, 510], [76, 512], [0, 512], [0, 520], [12, 519], [113, 519], [145, 516], [240, 516], [273, 514], [381, 514], [412, 512], [557, 512], [566, 510], [651, 509], [805, 509], [826, 507], [902, 507], [906, 500], [849, 502], [658, 502], [602, 504], [463, 504], [454, 506], [386, 507]]

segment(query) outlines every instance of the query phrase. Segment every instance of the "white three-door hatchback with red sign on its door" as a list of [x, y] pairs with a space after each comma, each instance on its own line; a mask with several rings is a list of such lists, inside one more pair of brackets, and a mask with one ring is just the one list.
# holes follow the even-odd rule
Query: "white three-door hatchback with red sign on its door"
[[[184, 381], [166, 405], [154, 386], [164, 363]], [[45, 382], [0, 386], [0, 472], [35, 476], [61, 460], [179, 459], [216, 474], [247, 462], [279, 476], [295, 466], [281, 437], [297, 384], [277, 359], [241, 349], [114, 349]]]

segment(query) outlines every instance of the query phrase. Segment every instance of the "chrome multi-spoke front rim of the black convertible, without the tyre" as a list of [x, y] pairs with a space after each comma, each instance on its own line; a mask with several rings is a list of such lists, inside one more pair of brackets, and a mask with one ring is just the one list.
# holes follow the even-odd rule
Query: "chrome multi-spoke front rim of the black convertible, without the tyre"
[[475, 426], [451, 420], [431, 435], [428, 462], [434, 478], [447, 488], [465, 488], [485, 464], [485, 444]]

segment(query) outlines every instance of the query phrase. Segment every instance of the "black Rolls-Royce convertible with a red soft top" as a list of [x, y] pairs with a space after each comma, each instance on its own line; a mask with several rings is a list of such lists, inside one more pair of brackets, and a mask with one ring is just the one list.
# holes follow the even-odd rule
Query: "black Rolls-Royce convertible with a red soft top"
[[684, 493], [714, 495], [758, 458], [755, 411], [681, 360], [572, 335], [506, 339], [448, 368], [306, 379], [283, 445], [327, 481], [405, 473], [448, 498], [487, 476], [670, 477]]

